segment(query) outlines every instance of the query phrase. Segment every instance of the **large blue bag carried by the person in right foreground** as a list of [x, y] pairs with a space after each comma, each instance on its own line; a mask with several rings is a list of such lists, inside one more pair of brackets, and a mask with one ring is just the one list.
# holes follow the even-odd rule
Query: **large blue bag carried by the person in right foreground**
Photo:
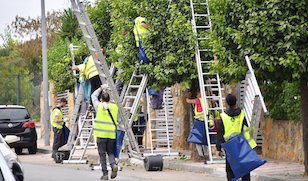
[[234, 180], [247, 175], [266, 163], [266, 160], [261, 160], [257, 153], [251, 149], [242, 134], [234, 136], [223, 143], [222, 147], [226, 152], [227, 160], [235, 176]]

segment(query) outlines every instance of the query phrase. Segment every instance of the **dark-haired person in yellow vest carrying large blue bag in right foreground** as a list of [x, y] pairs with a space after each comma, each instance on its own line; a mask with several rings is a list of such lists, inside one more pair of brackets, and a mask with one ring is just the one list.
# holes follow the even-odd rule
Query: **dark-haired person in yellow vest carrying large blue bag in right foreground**
[[[221, 143], [224, 143], [232, 137], [243, 134], [248, 144], [253, 149], [257, 146], [255, 140], [250, 136], [247, 121], [245, 119], [244, 111], [236, 107], [236, 97], [232, 94], [228, 94], [226, 102], [229, 107], [228, 110], [221, 113], [221, 121], [217, 121], [217, 143], [216, 143], [216, 156], [221, 155]], [[231, 181], [234, 178], [234, 174], [231, 170], [230, 164], [226, 159], [226, 172], [227, 178]], [[250, 181], [250, 174], [242, 177], [243, 181]]]

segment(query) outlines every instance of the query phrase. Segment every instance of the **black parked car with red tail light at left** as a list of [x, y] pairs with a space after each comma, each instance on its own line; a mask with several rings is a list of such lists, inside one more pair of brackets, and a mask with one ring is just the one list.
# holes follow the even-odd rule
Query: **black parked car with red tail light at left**
[[37, 134], [35, 123], [24, 106], [0, 105], [0, 133], [16, 135], [20, 141], [10, 143], [16, 154], [21, 154], [27, 148], [30, 154], [37, 152]]

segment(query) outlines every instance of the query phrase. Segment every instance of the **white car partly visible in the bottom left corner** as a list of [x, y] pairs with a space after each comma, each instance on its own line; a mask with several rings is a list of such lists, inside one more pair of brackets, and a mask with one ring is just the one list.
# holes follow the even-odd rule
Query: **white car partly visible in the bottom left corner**
[[[6, 164], [10, 168], [10, 172], [13, 174], [16, 181], [23, 181], [24, 174], [21, 163], [17, 155], [8, 146], [9, 143], [19, 141], [20, 138], [15, 135], [7, 135], [5, 138], [0, 134], [0, 152], [4, 157]], [[1, 179], [0, 179], [1, 180]]]

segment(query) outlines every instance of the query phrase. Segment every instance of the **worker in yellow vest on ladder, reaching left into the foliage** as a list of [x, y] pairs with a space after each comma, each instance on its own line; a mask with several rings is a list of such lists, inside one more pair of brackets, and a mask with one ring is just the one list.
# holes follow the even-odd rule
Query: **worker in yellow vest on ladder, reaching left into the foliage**
[[102, 85], [92, 56], [87, 57], [83, 64], [73, 66], [72, 70], [80, 71], [80, 75], [84, 75], [84, 78], [90, 81], [91, 94]]

